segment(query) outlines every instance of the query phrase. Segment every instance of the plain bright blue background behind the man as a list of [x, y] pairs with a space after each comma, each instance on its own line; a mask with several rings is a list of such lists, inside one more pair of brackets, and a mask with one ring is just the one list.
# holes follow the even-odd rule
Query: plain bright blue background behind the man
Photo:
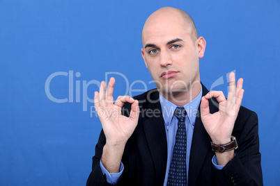
[[[132, 95], [155, 87], [141, 58], [141, 28], [163, 6], [189, 12], [205, 37], [200, 63], [206, 87], [223, 78], [215, 89], [227, 94], [226, 74], [244, 78], [242, 105], [259, 118], [264, 183], [279, 185], [279, 0], [0, 0], [0, 185], [86, 184], [101, 124], [91, 116], [93, 103], [83, 111], [83, 92], [92, 99], [96, 82], [111, 71], [129, 85], [146, 83], [135, 83], [139, 92]], [[49, 86], [67, 103], [45, 93], [47, 78], [57, 71], [73, 71], [80, 83], [72, 103], [69, 76], [56, 76]], [[126, 81], [115, 77], [116, 98], [126, 93]], [[83, 90], [83, 81], [95, 83]]]

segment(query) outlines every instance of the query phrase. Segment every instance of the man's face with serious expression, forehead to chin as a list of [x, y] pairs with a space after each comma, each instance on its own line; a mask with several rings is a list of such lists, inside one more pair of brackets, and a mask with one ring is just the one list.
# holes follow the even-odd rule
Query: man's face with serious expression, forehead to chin
[[189, 29], [182, 17], [167, 16], [149, 20], [143, 28], [142, 56], [162, 94], [180, 94], [200, 83], [199, 58], [203, 54], [199, 43], [203, 37], [196, 40]]

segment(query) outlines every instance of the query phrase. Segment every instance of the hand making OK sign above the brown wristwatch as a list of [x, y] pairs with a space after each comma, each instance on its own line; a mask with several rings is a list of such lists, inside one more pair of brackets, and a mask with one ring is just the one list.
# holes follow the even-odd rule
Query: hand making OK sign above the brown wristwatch
[[[231, 142], [231, 133], [242, 102], [244, 90], [243, 79], [238, 80], [235, 86], [235, 74], [229, 74], [228, 99], [221, 91], [210, 91], [201, 99], [201, 120], [205, 130], [215, 144], [226, 144]], [[210, 114], [208, 99], [215, 97], [219, 102], [219, 111]]]

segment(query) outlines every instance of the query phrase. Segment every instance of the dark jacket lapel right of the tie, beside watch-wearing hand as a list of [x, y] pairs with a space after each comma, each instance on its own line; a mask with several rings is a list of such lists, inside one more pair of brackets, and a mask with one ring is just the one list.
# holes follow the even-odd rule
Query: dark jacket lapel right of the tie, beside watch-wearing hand
[[[203, 96], [205, 96], [205, 94], [207, 94], [209, 91], [204, 87], [204, 85], [202, 85], [202, 87], [203, 87], [202, 93]], [[218, 109], [215, 107], [212, 101], [215, 101], [215, 99], [209, 101], [210, 113], [214, 113], [218, 111]], [[205, 156], [210, 149], [211, 138], [203, 126], [200, 112], [201, 109], [199, 104], [199, 111], [197, 113], [196, 122], [194, 124], [194, 135], [192, 137], [191, 154], [189, 157], [189, 177], [188, 177], [189, 186], [196, 184], [196, 179], [199, 176], [199, 172], [203, 165]]]

